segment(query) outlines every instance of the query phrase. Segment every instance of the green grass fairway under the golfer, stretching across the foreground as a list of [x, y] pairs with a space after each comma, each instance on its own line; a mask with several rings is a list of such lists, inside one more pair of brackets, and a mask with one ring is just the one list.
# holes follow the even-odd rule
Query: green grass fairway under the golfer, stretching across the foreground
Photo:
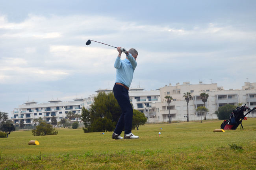
[[[221, 122], [149, 124], [134, 130], [140, 138], [130, 140], [82, 129], [57, 128], [58, 135], [39, 137], [15, 131], [0, 138], [0, 169], [256, 169], [256, 118], [243, 120], [244, 130], [213, 133]], [[30, 140], [40, 145], [28, 145]]]

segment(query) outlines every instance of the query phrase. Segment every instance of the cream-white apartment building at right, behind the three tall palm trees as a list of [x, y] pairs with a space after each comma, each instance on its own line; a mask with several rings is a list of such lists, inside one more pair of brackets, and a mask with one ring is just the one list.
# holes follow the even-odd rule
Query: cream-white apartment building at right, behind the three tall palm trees
[[[171, 84], [165, 85], [160, 88], [161, 102], [152, 104], [155, 108], [156, 115], [150, 118], [150, 122], [168, 122], [169, 121], [169, 108], [165, 96], [172, 96], [173, 100], [170, 103], [171, 120], [173, 121], [186, 121], [187, 120], [187, 102], [184, 93], [190, 92], [193, 100], [189, 101], [189, 120], [201, 120], [202, 116], [198, 115], [196, 109], [198, 106], [203, 106], [204, 103], [200, 97], [202, 92], [209, 94], [206, 108], [209, 112], [206, 114], [207, 119], [217, 119], [215, 111], [218, 107], [226, 104], [237, 105], [238, 103], [247, 104], [249, 107], [256, 107], [256, 83], [245, 82], [242, 89], [229, 89], [224, 90], [223, 87], [218, 87], [217, 83], [203, 84], [199, 82], [197, 85], [192, 85], [190, 82], [176, 83], [175, 86]], [[252, 112], [248, 117], [256, 117], [255, 112]], [[204, 117], [203, 117], [204, 118]]]

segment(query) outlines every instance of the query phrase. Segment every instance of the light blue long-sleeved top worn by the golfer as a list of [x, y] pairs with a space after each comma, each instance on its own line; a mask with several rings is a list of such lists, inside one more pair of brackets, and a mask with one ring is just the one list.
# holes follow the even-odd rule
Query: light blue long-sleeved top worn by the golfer
[[115, 82], [122, 83], [127, 87], [130, 87], [134, 76], [134, 70], [137, 67], [137, 62], [132, 54], [129, 54], [127, 58], [128, 59], [121, 60], [121, 57], [117, 56], [117, 59], [115, 60], [114, 67], [117, 68], [117, 77]]

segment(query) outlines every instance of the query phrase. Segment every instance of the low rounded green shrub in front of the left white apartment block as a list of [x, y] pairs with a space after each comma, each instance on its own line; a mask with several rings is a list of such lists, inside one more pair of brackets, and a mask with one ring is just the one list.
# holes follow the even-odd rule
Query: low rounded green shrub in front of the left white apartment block
[[45, 135], [57, 135], [58, 131], [54, 131], [55, 129], [51, 124], [47, 124], [46, 122], [41, 122], [35, 129], [32, 130], [32, 134], [34, 136], [45, 136]]

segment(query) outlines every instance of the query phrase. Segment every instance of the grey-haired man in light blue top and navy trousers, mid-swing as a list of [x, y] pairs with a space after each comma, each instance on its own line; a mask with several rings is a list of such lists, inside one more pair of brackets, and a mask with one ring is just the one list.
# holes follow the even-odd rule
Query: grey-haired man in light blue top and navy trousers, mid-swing
[[[113, 92], [122, 109], [122, 114], [117, 122], [112, 139], [123, 139], [123, 137], [120, 136], [123, 129], [124, 139], [137, 139], [139, 137], [132, 134], [133, 108], [130, 103], [128, 90], [132, 83], [134, 70], [137, 66], [136, 59], [138, 52], [134, 48], [126, 51], [121, 47], [117, 47], [117, 51], [119, 54], [114, 64], [114, 67], [117, 69], [117, 76]], [[121, 60], [122, 52], [126, 54], [126, 59]]]

